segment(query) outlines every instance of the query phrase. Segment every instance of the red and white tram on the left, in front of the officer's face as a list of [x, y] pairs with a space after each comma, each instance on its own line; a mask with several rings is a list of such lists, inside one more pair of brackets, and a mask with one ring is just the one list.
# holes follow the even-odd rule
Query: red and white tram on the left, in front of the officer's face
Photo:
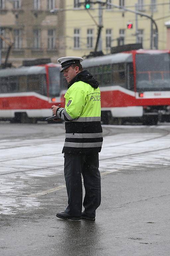
[[52, 104], [60, 103], [60, 65], [0, 70], [0, 120], [33, 122], [51, 116]]

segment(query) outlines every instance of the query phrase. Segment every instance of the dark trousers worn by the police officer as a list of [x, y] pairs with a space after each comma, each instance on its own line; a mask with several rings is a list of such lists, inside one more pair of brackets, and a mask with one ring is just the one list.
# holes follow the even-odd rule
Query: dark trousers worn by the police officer
[[83, 206], [89, 217], [95, 217], [96, 209], [101, 202], [101, 184], [99, 172], [99, 154], [64, 153], [64, 177], [68, 195], [68, 206], [65, 210], [71, 216], [81, 216], [82, 180], [85, 187]]

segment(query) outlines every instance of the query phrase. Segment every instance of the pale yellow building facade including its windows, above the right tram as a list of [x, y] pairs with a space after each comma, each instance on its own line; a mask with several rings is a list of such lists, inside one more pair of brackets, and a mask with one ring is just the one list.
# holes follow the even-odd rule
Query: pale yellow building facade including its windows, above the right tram
[[[93, 2], [94, 0], [92, 0]], [[99, 10], [99, 4], [91, 4], [85, 9], [84, 0], [65, 1], [65, 40], [66, 55], [84, 56], [94, 51], [98, 25], [102, 24], [101, 44], [98, 50], [105, 54], [110, 48], [123, 44], [142, 43], [145, 49], [167, 49], [167, 28], [170, 2], [166, 0], [103, 0], [107, 4]], [[96, 1], [94, 1], [96, 2]], [[80, 5], [81, 4], [81, 5]], [[116, 6], [111, 6], [114, 4]], [[142, 12], [152, 16], [158, 28], [157, 31], [151, 20], [141, 15], [135, 15], [118, 7]], [[128, 24], [132, 24], [128, 29]]]

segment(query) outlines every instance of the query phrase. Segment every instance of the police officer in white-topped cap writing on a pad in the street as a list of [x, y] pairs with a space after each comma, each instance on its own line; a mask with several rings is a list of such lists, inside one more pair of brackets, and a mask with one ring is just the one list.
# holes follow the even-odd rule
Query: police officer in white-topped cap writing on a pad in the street
[[[95, 220], [101, 202], [99, 152], [102, 147], [101, 97], [99, 83], [82, 69], [80, 57], [62, 57], [61, 72], [68, 83], [65, 108], [53, 105], [54, 115], [65, 121], [64, 177], [68, 206], [57, 213], [61, 219]], [[82, 212], [82, 180], [85, 187]]]

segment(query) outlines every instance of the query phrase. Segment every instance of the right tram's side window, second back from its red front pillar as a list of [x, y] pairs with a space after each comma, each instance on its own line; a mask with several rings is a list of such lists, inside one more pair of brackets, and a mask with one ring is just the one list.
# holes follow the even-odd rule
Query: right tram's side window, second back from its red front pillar
[[114, 85], [126, 87], [124, 64], [119, 63], [119, 64], [113, 65], [113, 81], [114, 81]]

